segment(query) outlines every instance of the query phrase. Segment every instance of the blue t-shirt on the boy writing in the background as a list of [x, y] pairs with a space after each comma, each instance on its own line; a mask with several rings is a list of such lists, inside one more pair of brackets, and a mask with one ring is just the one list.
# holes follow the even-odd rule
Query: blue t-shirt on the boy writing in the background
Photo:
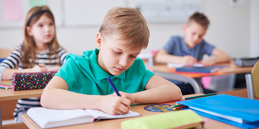
[[201, 43], [194, 48], [188, 48], [184, 42], [184, 38], [180, 36], [171, 36], [163, 47], [168, 54], [175, 56], [190, 55], [195, 57], [198, 61], [202, 60], [204, 54], [210, 56], [214, 48], [215, 46], [208, 44], [205, 40], [202, 40]]

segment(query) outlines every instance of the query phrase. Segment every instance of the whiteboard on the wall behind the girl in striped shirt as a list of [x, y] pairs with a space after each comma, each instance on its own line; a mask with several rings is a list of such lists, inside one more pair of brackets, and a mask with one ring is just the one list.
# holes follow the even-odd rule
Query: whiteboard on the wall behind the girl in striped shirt
[[[126, 0], [46, 0], [52, 11], [56, 27], [101, 26], [107, 11], [115, 6], [126, 7]], [[0, 1], [0, 28], [21, 28], [27, 12], [28, 0], [22, 0], [22, 19], [6, 21]]]

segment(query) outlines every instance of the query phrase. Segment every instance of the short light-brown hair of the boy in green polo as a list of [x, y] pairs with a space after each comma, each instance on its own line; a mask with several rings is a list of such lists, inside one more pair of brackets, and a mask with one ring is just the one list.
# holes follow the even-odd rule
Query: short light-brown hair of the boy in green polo
[[102, 38], [119, 34], [127, 40], [126, 47], [145, 49], [148, 45], [149, 30], [146, 20], [137, 9], [132, 7], [113, 7], [104, 17], [99, 30]]

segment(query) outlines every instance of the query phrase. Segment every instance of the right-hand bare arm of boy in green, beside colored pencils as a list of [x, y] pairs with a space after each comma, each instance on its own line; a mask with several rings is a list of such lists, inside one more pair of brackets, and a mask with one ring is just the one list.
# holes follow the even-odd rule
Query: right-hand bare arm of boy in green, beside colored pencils
[[120, 92], [122, 97], [129, 98], [131, 103], [162, 103], [182, 99], [182, 93], [178, 86], [170, 81], [153, 75], [146, 83], [145, 91], [137, 93]]

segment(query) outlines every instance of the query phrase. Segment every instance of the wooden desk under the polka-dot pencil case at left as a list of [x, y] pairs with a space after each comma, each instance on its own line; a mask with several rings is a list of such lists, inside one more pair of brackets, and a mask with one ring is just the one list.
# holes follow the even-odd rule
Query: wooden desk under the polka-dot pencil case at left
[[[0, 81], [6, 83], [12, 83], [12, 81]], [[0, 101], [25, 99], [30, 97], [41, 97], [43, 89], [21, 90], [14, 91], [13, 89], [0, 89]], [[0, 105], [0, 125], [2, 125], [2, 114]]]

